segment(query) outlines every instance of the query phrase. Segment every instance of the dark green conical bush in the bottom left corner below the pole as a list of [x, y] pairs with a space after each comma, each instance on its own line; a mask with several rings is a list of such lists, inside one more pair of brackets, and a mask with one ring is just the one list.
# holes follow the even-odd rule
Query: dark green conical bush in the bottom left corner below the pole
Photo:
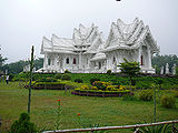
[[10, 133], [37, 133], [36, 125], [30, 122], [27, 113], [21, 113], [20, 119], [11, 125]]

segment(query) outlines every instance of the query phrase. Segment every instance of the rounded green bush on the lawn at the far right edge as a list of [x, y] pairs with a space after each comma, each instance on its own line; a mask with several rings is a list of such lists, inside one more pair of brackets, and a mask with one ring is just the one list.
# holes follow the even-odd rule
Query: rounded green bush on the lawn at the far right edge
[[172, 95], [162, 95], [160, 98], [161, 106], [172, 109], [176, 106], [176, 99]]

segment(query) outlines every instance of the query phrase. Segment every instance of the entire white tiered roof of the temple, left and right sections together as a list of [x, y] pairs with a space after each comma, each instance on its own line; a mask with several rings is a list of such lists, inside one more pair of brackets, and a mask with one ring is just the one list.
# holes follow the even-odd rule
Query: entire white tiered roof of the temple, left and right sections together
[[144, 44], [149, 44], [152, 52], [159, 51], [159, 47], [152, 38], [149, 27], [145, 25], [142, 20], [136, 18], [132, 23], [126, 24], [118, 19], [117, 22], [111, 23], [107, 41], [105, 41], [102, 32], [99, 32], [98, 27], [93, 23], [89, 28], [79, 24], [78, 29], [73, 29], [71, 39], [59, 38], [56, 34], [52, 34], [51, 40], [43, 37], [41, 53], [76, 54], [82, 52], [83, 54], [90, 54], [117, 49], [138, 49]]

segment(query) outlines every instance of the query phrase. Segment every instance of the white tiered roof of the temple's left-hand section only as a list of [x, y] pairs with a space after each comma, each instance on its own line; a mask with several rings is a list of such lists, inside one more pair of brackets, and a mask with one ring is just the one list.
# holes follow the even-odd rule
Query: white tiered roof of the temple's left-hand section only
[[83, 53], [96, 53], [96, 50], [101, 43], [103, 43], [101, 34], [102, 33], [99, 33], [98, 27], [95, 27], [95, 24], [91, 24], [90, 28], [79, 24], [79, 29], [75, 28], [73, 30], [72, 39], [59, 38], [56, 34], [52, 34], [51, 40], [43, 37], [41, 53], [76, 53], [77, 51], [82, 51]]

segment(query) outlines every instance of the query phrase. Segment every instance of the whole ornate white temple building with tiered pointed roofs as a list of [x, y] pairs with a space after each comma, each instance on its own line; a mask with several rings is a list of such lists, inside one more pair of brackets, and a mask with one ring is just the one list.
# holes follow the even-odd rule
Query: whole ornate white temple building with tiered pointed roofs
[[155, 73], [151, 57], [159, 52], [148, 25], [136, 18], [131, 24], [120, 19], [112, 22], [108, 39], [92, 24], [82, 24], [73, 30], [72, 39], [52, 34], [51, 40], [43, 37], [41, 54], [44, 54], [43, 72], [105, 73], [119, 72], [120, 62], [140, 62], [141, 71]]

